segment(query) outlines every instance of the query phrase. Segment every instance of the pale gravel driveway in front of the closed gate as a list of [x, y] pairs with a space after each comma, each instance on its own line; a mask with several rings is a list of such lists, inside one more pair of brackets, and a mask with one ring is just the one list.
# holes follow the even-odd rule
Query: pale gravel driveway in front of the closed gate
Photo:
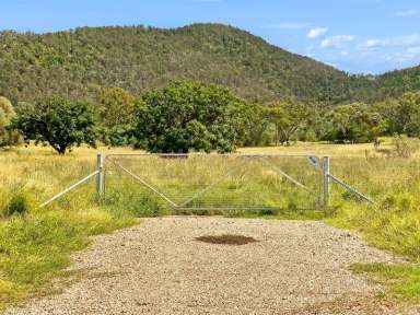
[[[228, 233], [259, 242], [195, 240]], [[372, 261], [395, 258], [322, 222], [144, 219], [77, 254], [80, 281], [7, 314], [396, 314], [347, 269]]]

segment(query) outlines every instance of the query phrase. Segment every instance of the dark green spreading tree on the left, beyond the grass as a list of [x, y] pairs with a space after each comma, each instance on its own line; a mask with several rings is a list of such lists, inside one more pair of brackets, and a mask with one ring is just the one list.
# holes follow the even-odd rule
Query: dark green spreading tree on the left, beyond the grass
[[12, 126], [26, 141], [46, 142], [59, 154], [74, 145], [95, 145], [95, 116], [92, 106], [60, 97], [19, 107]]

